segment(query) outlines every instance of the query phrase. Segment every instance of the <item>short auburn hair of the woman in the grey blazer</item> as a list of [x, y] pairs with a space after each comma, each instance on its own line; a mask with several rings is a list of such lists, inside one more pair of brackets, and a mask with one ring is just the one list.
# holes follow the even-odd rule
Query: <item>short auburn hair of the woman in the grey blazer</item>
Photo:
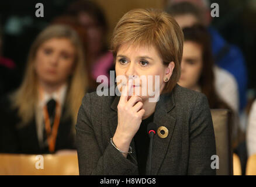
[[164, 92], [171, 92], [181, 75], [184, 34], [178, 23], [168, 13], [158, 9], [134, 9], [117, 23], [112, 36], [111, 51], [116, 59], [123, 44], [154, 46], [164, 65], [175, 63], [172, 76]]

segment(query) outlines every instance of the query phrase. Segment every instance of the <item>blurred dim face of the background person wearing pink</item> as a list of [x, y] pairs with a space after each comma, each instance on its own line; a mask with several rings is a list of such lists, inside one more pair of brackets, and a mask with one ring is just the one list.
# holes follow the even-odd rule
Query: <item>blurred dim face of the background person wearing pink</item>
[[102, 49], [103, 31], [99, 23], [86, 12], [78, 15], [79, 23], [85, 27], [87, 31], [87, 43], [89, 53], [98, 54]]

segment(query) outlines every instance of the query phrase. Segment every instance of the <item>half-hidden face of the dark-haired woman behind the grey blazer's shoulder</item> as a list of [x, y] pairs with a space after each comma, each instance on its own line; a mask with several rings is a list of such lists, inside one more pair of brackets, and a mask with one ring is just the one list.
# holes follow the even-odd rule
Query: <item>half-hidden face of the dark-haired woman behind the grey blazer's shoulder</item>
[[202, 48], [193, 41], [185, 41], [181, 61], [181, 77], [178, 84], [189, 89], [195, 89], [202, 72]]

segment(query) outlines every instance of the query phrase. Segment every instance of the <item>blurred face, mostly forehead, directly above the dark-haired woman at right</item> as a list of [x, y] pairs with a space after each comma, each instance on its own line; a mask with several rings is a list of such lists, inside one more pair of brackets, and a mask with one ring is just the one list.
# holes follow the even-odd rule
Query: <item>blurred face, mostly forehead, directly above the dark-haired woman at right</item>
[[185, 27], [192, 27], [198, 23], [196, 16], [192, 14], [177, 15], [174, 16], [174, 19], [177, 21], [181, 29], [184, 29]]

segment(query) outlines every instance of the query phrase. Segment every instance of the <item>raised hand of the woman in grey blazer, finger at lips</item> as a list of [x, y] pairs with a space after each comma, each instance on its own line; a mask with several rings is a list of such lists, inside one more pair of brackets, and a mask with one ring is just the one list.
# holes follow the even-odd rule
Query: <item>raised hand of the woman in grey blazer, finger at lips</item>
[[128, 100], [129, 91], [132, 86], [132, 79], [130, 79], [128, 85], [124, 86], [117, 105], [118, 123], [113, 137], [113, 143], [122, 151], [129, 150], [130, 142], [139, 130], [142, 117], [145, 113], [145, 110], [142, 109], [143, 102], [140, 96], [133, 95]]

